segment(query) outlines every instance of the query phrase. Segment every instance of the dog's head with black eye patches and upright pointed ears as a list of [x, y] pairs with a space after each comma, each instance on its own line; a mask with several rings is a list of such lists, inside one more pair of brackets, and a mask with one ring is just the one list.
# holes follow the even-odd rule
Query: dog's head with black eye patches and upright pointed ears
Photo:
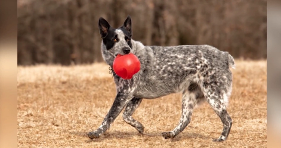
[[101, 50], [104, 60], [112, 65], [114, 58], [118, 55], [133, 53], [131, 38], [132, 22], [128, 16], [124, 24], [115, 29], [102, 17], [98, 20], [98, 28], [102, 38]]

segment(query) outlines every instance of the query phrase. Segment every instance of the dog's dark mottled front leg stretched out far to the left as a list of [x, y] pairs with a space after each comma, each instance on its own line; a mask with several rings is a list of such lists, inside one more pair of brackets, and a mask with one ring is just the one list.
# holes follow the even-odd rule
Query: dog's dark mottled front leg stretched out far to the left
[[129, 95], [124, 94], [123, 92], [118, 92], [114, 99], [112, 107], [105, 116], [101, 126], [99, 126], [96, 131], [89, 132], [88, 137], [91, 139], [98, 138], [102, 133], [109, 129], [110, 124], [117, 118], [117, 116], [120, 114], [125, 105], [130, 101], [130, 99], [132, 99], [132, 97], [130, 97]]

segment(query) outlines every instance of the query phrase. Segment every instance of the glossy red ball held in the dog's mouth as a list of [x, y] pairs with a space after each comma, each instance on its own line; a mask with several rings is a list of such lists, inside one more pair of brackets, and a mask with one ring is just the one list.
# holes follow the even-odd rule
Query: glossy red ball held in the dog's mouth
[[118, 54], [113, 61], [114, 72], [123, 79], [131, 79], [141, 69], [141, 63], [134, 54]]

